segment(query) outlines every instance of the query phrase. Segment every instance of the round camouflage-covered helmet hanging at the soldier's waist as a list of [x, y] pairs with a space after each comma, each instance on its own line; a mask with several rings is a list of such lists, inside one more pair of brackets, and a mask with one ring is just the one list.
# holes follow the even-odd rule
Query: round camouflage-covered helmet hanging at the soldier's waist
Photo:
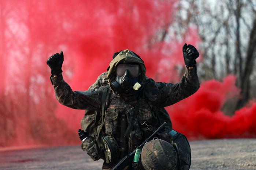
[[142, 148], [141, 163], [145, 170], [173, 170], [177, 164], [177, 153], [170, 143], [156, 138]]

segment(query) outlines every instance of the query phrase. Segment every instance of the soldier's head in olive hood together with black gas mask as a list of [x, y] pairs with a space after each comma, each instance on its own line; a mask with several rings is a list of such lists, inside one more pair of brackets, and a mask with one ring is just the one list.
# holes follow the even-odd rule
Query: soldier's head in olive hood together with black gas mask
[[[123, 67], [120, 67], [122, 65]], [[118, 69], [119, 67], [121, 69]], [[108, 84], [117, 94], [137, 93], [143, 88], [145, 73], [146, 67], [142, 59], [133, 51], [123, 50], [110, 62]]]

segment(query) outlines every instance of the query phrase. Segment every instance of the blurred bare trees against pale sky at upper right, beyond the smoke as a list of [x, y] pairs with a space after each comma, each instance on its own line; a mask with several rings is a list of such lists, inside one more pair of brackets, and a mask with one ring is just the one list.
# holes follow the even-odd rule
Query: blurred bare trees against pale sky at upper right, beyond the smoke
[[237, 106], [233, 104], [236, 109], [255, 97], [250, 95], [255, 94], [251, 88], [255, 82], [250, 81], [256, 72], [255, 8], [256, 3], [251, 0], [181, 0], [178, 5], [178, 25], [183, 24], [185, 28], [195, 25], [199, 30], [204, 57], [199, 65], [201, 80], [221, 80], [230, 73], [237, 75], [242, 97]]

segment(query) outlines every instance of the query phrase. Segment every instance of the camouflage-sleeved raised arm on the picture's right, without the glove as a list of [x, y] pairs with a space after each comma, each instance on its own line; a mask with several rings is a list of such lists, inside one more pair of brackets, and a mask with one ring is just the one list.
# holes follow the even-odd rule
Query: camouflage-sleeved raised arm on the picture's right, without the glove
[[177, 84], [160, 82], [161, 100], [158, 105], [166, 107], [181, 101], [182, 99], [194, 94], [200, 87], [197, 76], [196, 66], [193, 68], [186, 68], [185, 74], [182, 76], [181, 81]]

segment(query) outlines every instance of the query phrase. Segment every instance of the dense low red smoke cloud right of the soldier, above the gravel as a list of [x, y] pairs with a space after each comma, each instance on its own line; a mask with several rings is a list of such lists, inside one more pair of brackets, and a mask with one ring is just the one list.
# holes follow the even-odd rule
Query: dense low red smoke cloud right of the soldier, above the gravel
[[168, 108], [174, 128], [190, 139], [255, 137], [255, 103], [232, 117], [221, 111], [223, 104], [238, 94], [235, 76], [227, 76], [223, 82], [203, 82], [195, 94]]

